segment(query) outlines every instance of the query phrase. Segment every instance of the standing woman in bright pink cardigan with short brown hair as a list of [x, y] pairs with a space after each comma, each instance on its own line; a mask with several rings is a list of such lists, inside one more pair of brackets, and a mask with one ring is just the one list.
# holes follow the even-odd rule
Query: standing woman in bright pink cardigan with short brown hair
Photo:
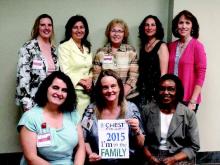
[[184, 103], [197, 111], [206, 73], [206, 53], [199, 37], [196, 17], [183, 10], [173, 19], [173, 35], [178, 40], [169, 44], [169, 73], [177, 75], [184, 86]]

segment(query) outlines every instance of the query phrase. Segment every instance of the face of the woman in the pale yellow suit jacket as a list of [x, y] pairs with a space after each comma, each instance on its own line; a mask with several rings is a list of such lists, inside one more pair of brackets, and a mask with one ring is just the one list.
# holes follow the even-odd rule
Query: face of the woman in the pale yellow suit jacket
[[81, 21], [76, 22], [72, 27], [72, 38], [74, 41], [80, 41], [85, 36], [85, 26]]

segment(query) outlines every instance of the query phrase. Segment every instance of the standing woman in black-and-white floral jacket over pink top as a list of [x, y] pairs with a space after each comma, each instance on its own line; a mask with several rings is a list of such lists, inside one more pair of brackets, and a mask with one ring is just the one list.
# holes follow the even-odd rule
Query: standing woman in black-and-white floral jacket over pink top
[[42, 14], [35, 20], [31, 40], [18, 53], [16, 104], [23, 111], [35, 105], [33, 99], [40, 83], [59, 69], [53, 44], [53, 19], [48, 14]]

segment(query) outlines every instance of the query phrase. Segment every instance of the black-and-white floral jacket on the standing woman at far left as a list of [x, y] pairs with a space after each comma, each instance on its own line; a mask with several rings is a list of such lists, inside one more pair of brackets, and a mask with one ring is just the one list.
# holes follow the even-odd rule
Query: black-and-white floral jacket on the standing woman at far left
[[[51, 47], [55, 70], [58, 70], [55, 47]], [[33, 98], [40, 83], [49, 74], [48, 63], [40, 51], [37, 39], [26, 42], [18, 52], [16, 80], [16, 104], [23, 110], [30, 110], [34, 106]], [[51, 73], [51, 72], [50, 72]]]

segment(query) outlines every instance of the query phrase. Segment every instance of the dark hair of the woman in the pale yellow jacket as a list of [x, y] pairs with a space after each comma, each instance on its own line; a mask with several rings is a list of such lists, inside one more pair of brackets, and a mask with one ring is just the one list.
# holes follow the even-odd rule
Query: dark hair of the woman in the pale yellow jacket
[[66, 26], [65, 26], [65, 29], [66, 29], [65, 30], [65, 38], [60, 43], [68, 41], [72, 37], [72, 28], [79, 21], [82, 22], [85, 27], [85, 35], [82, 39], [82, 44], [85, 45], [89, 49], [89, 52], [90, 52], [91, 51], [91, 43], [87, 40], [87, 37], [89, 35], [89, 26], [88, 26], [88, 23], [87, 23], [87, 20], [85, 19], [85, 17], [83, 17], [81, 15], [74, 15], [69, 18], [69, 20], [67, 21]]

